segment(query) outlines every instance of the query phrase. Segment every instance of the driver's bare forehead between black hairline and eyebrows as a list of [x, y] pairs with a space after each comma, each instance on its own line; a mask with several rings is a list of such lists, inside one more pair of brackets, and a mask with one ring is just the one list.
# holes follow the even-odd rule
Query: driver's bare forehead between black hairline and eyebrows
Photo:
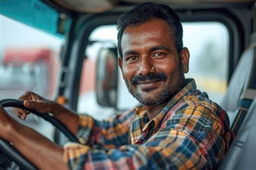
[[171, 45], [174, 43], [170, 25], [163, 19], [153, 18], [141, 25], [127, 26], [122, 36], [121, 47], [124, 52], [127, 47], [131, 46]]

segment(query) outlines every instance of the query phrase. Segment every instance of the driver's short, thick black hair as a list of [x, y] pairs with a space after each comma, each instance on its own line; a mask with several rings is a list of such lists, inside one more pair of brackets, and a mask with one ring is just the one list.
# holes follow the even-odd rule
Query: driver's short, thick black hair
[[170, 8], [170, 6], [146, 2], [135, 6], [129, 11], [124, 12], [117, 21], [117, 47], [119, 56], [121, 58], [123, 58], [121, 39], [125, 28], [130, 25], [143, 24], [147, 21], [150, 21], [152, 18], [163, 19], [170, 25], [173, 36], [175, 37], [175, 45], [177, 51], [180, 53], [180, 51], [183, 49], [183, 29], [179, 16]]

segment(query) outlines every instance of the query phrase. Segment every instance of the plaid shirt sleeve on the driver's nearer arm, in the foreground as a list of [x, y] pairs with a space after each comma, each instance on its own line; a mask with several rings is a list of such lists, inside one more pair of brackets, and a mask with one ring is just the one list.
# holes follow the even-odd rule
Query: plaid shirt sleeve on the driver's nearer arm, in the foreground
[[64, 160], [70, 169], [214, 169], [230, 142], [220, 120], [204, 106], [189, 106], [141, 145], [98, 149], [70, 143]]

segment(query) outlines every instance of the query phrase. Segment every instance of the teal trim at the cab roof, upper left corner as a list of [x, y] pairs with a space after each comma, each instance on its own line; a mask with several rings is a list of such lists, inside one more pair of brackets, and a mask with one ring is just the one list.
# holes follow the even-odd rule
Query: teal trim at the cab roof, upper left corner
[[[0, 14], [16, 21], [43, 30], [52, 35], [65, 36], [58, 32], [59, 12], [38, 0], [0, 1]], [[66, 17], [64, 34], [68, 33], [71, 18]]]

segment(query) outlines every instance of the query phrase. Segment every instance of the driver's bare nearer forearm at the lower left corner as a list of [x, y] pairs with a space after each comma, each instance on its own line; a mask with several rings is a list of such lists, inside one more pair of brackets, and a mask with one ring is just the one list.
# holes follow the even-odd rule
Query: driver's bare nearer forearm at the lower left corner
[[0, 106], [0, 138], [11, 142], [22, 155], [39, 169], [68, 169], [63, 148], [41, 134], [19, 124]]

